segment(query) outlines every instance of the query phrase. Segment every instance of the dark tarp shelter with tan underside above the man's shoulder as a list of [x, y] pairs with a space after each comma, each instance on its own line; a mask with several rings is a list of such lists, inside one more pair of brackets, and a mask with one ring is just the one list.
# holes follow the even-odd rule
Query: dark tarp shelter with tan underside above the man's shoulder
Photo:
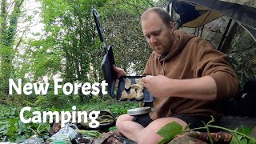
[[[168, 6], [180, 16], [178, 24], [185, 27], [200, 27], [217, 18], [226, 16], [230, 22], [238, 22], [256, 41], [256, 1], [255, 0], [169, 0]], [[171, 4], [171, 5], [170, 5]], [[170, 10], [168, 7], [167, 10]]]

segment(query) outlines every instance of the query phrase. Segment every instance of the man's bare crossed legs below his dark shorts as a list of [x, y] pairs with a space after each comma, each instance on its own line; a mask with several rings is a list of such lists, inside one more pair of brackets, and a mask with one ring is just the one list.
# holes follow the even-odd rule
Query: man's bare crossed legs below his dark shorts
[[137, 122], [131, 121], [132, 118], [133, 117], [128, 114], [123, 114], [118, 117], [116, 126], [121, 134], [126, 136], [126, 138], [142, 144], [154, 144], [160, 142], [162, 137], [156, 133], [162, 128], [162, 126], [165, 126], [167, 123], [178, 122], [180, 125], [182, 125], [183, 128], [185, 128], [187, 125], [186, 122], [179, 118], [159, 118], [144, 128]]

